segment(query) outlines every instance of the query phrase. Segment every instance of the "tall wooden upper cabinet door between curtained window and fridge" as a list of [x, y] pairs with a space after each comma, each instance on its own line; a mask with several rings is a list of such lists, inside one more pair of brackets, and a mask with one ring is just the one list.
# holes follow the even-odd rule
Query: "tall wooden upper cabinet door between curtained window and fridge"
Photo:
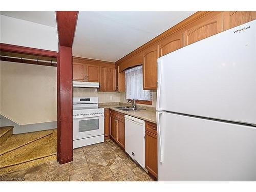
[[143, 54], [143, 90], [157, 89], [157, 46], [147, 49]]

